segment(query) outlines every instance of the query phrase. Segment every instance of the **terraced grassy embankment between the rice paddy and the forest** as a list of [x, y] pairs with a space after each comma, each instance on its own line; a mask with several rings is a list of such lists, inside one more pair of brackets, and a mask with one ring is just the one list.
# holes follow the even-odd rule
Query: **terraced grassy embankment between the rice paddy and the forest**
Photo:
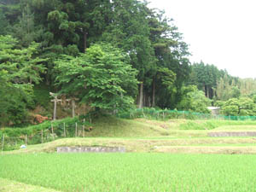
[[211, 131], [256, 131], [254, 121], [170, 119], [117, 119], [105, 117], [93, 122], [85, 137], [59, 138], [51, 143], [3, 152], [19, 154], [55, 152], [58, 146], [125, 146], [128, 152], [172, 152], [210, 154], [254, 154], [253, 137], [207, 137]]

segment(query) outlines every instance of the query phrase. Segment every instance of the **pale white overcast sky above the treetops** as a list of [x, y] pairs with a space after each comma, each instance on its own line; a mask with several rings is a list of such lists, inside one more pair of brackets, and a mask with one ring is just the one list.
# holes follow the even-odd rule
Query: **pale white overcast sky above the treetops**
[[256, 78], [256, 0], [148, 0], [174, 19], [193, 54], [237, 77]]

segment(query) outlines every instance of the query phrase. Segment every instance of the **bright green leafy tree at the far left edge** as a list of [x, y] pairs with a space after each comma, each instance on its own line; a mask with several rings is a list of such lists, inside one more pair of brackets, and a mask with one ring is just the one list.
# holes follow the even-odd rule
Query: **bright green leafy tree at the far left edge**
[[17, 49], [17, 40], [0, 36], [0, 125], [26, 123], [32, 107], [32, 83], [39, 83], [44, 61], [35, 56], [37, 44]]

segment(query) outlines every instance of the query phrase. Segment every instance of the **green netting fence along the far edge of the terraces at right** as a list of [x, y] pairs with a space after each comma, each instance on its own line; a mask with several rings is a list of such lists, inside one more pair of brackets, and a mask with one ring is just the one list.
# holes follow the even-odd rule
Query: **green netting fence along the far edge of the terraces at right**
[[256, 116], [225, 116], [212, 113], [195, 113], [177, 110], [156, 110], [154, 108], [137, 108], [125, 113], [118, 113], [119, 118], [136, 119], [224, 119], [224, 120], [256, 120]]

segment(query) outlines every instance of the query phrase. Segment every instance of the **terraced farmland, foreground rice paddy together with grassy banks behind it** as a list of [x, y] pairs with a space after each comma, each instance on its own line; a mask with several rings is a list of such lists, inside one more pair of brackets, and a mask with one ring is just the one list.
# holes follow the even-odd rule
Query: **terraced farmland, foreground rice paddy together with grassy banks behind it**
[[[87, 137], [0, 152], [0, 191], [256, 191], [254, 121], [108, 119]], [[57, 154], [60, 146], [123, 146], [125, 154]]]

